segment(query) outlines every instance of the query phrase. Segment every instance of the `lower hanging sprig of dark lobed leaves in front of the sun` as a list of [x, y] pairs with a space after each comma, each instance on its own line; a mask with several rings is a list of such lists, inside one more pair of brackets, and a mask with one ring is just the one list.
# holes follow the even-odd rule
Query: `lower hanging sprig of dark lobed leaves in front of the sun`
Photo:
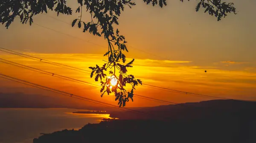
[[[89, 67], [92, 70], [91, 77], [95, 75], [95, 81], [100, 79], [102, 86], [100, 90], [102, 93], [101, 96], [105, 93], [108, 95], [114, 93], [115, 100], [118, 101], [119, 107], [124, 107], [126, 102], [130, 99], [133, 101], [135, 86], [138, 84], [142, 85], [142, 81], [140, 79], [135, 79], [133, 75], [127, 74], [127, 68], [132, 67], [134, 59], [126, 63], [126, 57], [125, 54], [123, 54], [124, 50], [128, 51], [125, 45], [125, 36], [119, 35], [119, 31], [117, 29], [115, 35], [112, 35], [112, 39], [107, 39], [110, 50], [105, 53], [104, 56], [108, 56], [108, 62], [103, 64], [102, 67], [99, 67], [98, 65], [96, 65], [96, 67]], [[106, 77], [105, 72], [107, 69], [110, 69], [110, 77]], [[113, 79], [117, 80], [116, 85], [111, 84], [111, 80]], [[127, 84], [130, 84], [132, 87], [130, 91], [125, 89]]]

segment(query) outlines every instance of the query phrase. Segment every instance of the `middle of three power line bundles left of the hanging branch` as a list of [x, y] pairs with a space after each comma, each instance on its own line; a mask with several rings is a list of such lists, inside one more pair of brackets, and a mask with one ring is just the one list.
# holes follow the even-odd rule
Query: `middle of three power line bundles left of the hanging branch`
[[[92, 84], [92, 83], [90, 83], [90, 82], [81, 81], [81, 80], [78, 80], [78, 79], [73, 79], [73, 78], [70, 78], [70, 77], [67, 77], [67, 76], [61, 76], [61, 75], [59, 75], [59, 74], [50, 73], [50, 72], [48, 72], [48, 71], [40, 70], [40, 69], [34, 68], [34, 67], [29, 67], [29, 66], [26, 66], [26, 65], [24, 65], [24, 64], [18, 64], [18, 63], [16, 63], [16, 62], [12, 62], [12, 61], [9, 61], [9, 60], [6, 60], [6, 59], [0, 58], [0, 60], [4, 60], [4, 61], [10, 62], [10, 63], [13, 63], [13, 64], [11, 64], [11, 65], [14, 65], [14, 66], [16, 66], [16, 67], [24, 66], [24, 67], [21, 67], [21, 68], [25, 68], [25, 69], [27, 69], [27, 70], [34, 69], [34, 70], [32, 70], [32, 71], [38, 72], [38, 71], [36, 71], [36, 70], [39, 70], [39, 71], [40, 71], [39, 73], [43, 73], [43, 72], [44, 72], [43, 74], [47, 74], [47, 75], [50, 75], [50, 76], [55, 76], [55, 77], [60, 76], [61, 79], [67, 78], [67, 79], [72, 79], [72, 80], [75, 80], [75, 81], [79, 81], [79, 82], [86, 83], [86, 85], [87, 85], [87, 84], [91, 84], [91, 85], [94, 85], [94, 86], [99, 86], [99, 85], [96, 85], [96, 84]], [[0, 61], [0, 62], [3, 62], [3, 61]], [[6, 62], [3, 62], [3, 63], [6, 63]], [[10, 64], [10, 63], [6, 63], [6, 64]], [[17, 65], [15, 65], [15, 64], [18, 64], [18, 65], [21, 65], [21, 66], [17, 66]], [[28, 67], [28, 68], [26, 68], [26, 67]], [[29, 69], [29, 68], [31, 68], [31, 69]], [[49, 74], [48, 74], [48, 73], [49, 73]], [[58, 77], [58, 78], [59, 78], [59, 77]], [[93, 87], [94, 87], [94, 86], [93, 86]]]

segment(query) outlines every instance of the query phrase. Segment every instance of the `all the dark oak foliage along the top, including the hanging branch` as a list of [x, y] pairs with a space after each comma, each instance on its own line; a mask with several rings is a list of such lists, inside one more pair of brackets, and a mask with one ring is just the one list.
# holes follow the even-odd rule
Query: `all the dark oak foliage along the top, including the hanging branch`
[[[167, 5], [167, 0], [143, 0], [146, 4], [152, 6], [159, 5], [161, 8]], [[180, 0], [183, 2], [183, 0]], [[189, 0], [188, 0], [189, 1]], [[134, 59], [126, 62], [125, 51], [128, 49], [125, 45], [125, 36], [119, 34], [118, 29], [114, 29], [114, 25], [119, 25], [118, 19], [125, 6], [132, 7], [136, 4], [132, 0], [77, 0], [79, 7], [76, 13], [80, 16], [73, 20], [72, 27], [76, 24], [82, 28], [83, 32], [90, 32], [96, 36], [104, 36], [108, 41], [108, 51], [104, 56], [108, 56], [108, 62], [101, 67], [90, 67], [92, 70], [91, 78], [95, 76], [95, 81], [101, 82], [102, 89], [100, 92], [103, 96], [105, 93], [115, 94], [115, 100], [118, 100], [119, 107], [124, 107], [126, 102], [131, 99], [133, 101], [134, 89], [138, 84], [142, 84], [140, 79], [136, 79], [133, 75], [128, 75], [127, 68], [132, 67]], [[221, 20], [228, 13], [236, 14], [236, 8], [233, 3], [225, 3], [221, 0], [200, 0], [195, 10], [199, 11], [202, 7], [204, 12], [217, 17]], [[84, 22], [81, 20], [82, 8], [91, 14], [91, 20]], [[33, 17], [37, 14], [55, 11], [57, 15], [73, 14], [73, 10], [67, 6], [66, 0], [0, 0], [0, 22], [9, 28], [16, 17], [20, 18], [21, 23], [33, 23]], [[107, 77], [105, 73], [109, 70], [111, 77]], [[111, 80], [117, 79], [116, 85], [111, 85]], [[131, 84], [132, 89], [127, 91], [125, 87]]]

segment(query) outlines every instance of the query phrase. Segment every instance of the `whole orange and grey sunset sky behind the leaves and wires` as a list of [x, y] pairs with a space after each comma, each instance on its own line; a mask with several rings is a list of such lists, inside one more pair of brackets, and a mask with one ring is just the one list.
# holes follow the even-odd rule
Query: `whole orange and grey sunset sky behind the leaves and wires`
[[[74, 11], [76, 1], [70, 1], [68, 4]], [[135, 58], [129, 73], [145, 84], [217, 97], [256, 100], [255, 0], [225, 0], [235, 3], [238, 14], [229, 14], [219, 22], [203, 10], [195, 12], [196, 0], [183, 3], [169, 0], [164, 8], [147, 6], [142, 0], [134, 1], [137, 6], [125, 9], [118, 26], [120, 34], [128, 41], [128, 60]], [[90, 20], [85, 13], [83, 20]], [[22, 25], [19, 19], [9, 29], [1, 25], [0, 48], [85, 70], [95, 64], [102, 65], [103, 55], [108, 50], [107, 42], [102, 37], [72, 28], [71, 22], [77, 16], [73, 13], [57, 17], [54, 12], [49, 12], [36, 16], [32, 26]], [[0, 58], [99, 84], [86, 73], [4, 52], [0, 52]], [[99, 89], [87, 85], [3, 63], [0, 63], [0, 73], [117, 105], [113, 95], [101, 98]], [[0, 92], [49, 94], [3, 79], [0, 79]], [[176, 103], [209, 100], [146, 86], [137, 87], [135, 94]], [[156, 105], [160, 103], [135, 97], [127, 107]]]

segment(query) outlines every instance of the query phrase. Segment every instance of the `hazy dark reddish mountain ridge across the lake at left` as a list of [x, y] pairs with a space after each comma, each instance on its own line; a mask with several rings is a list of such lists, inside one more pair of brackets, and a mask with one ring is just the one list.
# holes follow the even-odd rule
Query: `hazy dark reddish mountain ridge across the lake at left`
[[[79, 103], [80, 102], [80, 103]], [[59, 95], [0, 93], [0, 108], [73, 108], [104, 110], [80, 100]]]

